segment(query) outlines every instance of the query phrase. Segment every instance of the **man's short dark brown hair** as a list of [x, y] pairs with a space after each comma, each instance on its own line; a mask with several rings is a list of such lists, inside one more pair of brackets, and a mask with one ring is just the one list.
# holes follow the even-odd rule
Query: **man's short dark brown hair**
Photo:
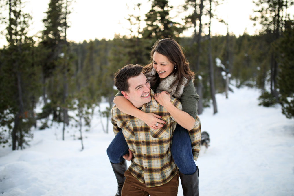
[[114, 85], [119, 91], [128, 92], [129, 84], [128, 79], [138, 76], [142, 72], [141, 65], [128, 64], [114, 74]]

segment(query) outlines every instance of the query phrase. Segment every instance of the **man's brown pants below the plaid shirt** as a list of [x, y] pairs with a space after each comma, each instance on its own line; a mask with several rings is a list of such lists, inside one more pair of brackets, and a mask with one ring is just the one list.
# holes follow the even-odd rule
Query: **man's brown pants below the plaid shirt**
[[121, 190], [122, 196], [176, 196], [178, 194], [179, 173], [169, 182], [157, 187], [146, 187], [145, 183], [139, 182], [128, 170], [125, 172], [125, 177], [126, 181]]

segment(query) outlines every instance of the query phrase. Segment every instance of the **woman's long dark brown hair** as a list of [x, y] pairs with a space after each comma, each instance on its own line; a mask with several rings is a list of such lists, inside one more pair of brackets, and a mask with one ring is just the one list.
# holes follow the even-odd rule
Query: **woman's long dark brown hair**
[[[154, 52], [158, 52], [168, 58], [168, 60], [176, 66], [174, 72], [178, 73], [176, 81], [182, 82], [182, 78], [185, 77], [186, 79], [191, 80], [194, 79], [194, 72], [190, 70], [189, 62], [186, 60], [186, 57], [183, 53], [182, 47], [176, 42], [174, 39], [171, 38], [164, 38], [159, 39], [153, 45], [153, 49], [151, 50], [150, 57], [151, 61], [153, 61], [153, 54]], [[143, 74], [148, 75], [153, 68], [153, 62], [144, 66]], [[156, 76], [154, 80], [158, 79], [158, 73], [156, 72]], [[183, 84], [186, 85], [186, 84]]]

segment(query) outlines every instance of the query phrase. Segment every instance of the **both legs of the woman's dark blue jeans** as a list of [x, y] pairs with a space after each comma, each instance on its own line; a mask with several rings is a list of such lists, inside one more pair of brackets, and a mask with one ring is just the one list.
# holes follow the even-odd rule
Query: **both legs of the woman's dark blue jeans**
[[[108, 158], [111, 163], [120, 163], [124, 160], [123, 155], [127, 153], [128, 144], [123, 137], [122, 131], [119, 131], [107, 148]], [[192, 175], [196, 172], [197, 167], [193, 160], [191, 139], [188, 130], [179, 124], [177, 124], [173, 132], [171, 153], [181, 173]]]

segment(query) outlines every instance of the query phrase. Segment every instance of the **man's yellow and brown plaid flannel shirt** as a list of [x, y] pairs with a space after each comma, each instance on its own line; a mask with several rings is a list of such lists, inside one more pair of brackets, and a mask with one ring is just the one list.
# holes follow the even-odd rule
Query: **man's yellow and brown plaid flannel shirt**
[[[182, 109], [181, 102], [171, 97], [171, 102]], [[154, 113], [165, 121], [163, 127], [151, 129], [142, 120], [121, 112], [116, 106], [111, 110], [111, 123], [116, 135], [122, 131], [128, 147], [133, 153], [133, 160], [128, 170], [146, 187], [156, 187], [170, 181], [177, 173], [177, 167], [171, 155], [171, 141], [176, 128], [175, 119], [154, 99], [151, 89], [151, 101], [141, 108], [143, 112]], [[189, 131], [194, 159], [197, 160], [200, 150], [201, 128], [196, 119], [196, 126]], [[192, 140], [193, 138], [193, 140]]]

